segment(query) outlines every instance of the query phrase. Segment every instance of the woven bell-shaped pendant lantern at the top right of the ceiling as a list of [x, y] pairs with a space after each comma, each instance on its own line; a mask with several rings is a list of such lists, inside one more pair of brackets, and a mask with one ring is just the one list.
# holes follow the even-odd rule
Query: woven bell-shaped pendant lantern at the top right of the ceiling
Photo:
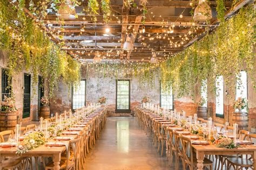
[[206, 0], [199, 0], [198, 6], [194, 10], [194, 20], [198, 20], [200, 22], [209, 20], [212, 18], [212, 9], [206, 2]]

